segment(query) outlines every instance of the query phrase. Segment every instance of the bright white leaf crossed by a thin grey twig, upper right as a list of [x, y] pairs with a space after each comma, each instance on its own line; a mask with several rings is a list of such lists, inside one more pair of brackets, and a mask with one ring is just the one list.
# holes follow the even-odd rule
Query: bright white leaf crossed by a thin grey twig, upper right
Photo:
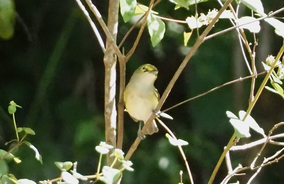
[[[248, 23], [248, 22], [252, 22], [255, 21], [256, 18], [254, 17], [249, 17], [249, 16], [245, 16], [245, 17], [241, 17], [239, 19], [236, 19], [235, 22], [238, 23], [239, 25]], [[250, 32], [252, 33], [258, 33], [260, 31], [260, 25], [259, 25], [259, 21], [255, 21], [246, 25], [242, 25], [239, 28], [241, 29], [248, 29]]]

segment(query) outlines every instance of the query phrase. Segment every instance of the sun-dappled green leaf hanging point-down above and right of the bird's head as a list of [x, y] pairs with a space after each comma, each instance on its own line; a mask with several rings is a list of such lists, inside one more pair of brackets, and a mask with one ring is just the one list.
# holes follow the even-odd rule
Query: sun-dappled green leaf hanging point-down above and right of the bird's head
[[151, 42], [153, 47], [156, 46], [164, 37], [165, 33], [165, 23], [158, 18], [154, 14], [150, 14], [147, 17], [147, 25], [148, 25], [148, 30], [149, 34], [151, 37]]

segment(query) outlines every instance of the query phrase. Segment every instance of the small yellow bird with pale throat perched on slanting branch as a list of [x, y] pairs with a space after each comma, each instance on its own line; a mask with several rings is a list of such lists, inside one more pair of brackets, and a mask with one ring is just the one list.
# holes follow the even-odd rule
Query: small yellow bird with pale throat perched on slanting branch
[[[140, 121], [138, 136], [142, 139], [145, 135], [141, 134], [141, 121], [144, 121], [144, 124], [147, 122], [160, 100], [158, 90], [154, 87], [157, 74], [158, 70], [153, 65], [140, 66], [131, 76], [124, 91], [126, 110], [135, 122]], [[158, 127], [153, 120], [147, 128], [147, 134], [155, 132], [158, 132]]]

